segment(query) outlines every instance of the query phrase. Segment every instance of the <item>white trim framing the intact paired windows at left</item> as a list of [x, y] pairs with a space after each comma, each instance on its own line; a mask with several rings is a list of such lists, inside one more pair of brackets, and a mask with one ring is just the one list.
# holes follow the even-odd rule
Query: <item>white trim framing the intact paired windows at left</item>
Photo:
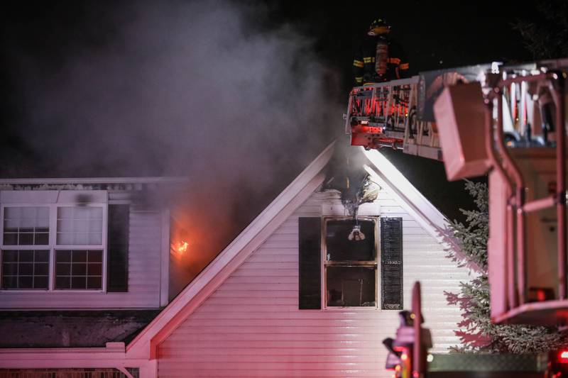
[[[58, 245], [57, 244], [57, 222], [58, 208], [77, 207], [76, 203], [10, 203], [0, 205], [0, 250], [49, 250], [49, 285], [48, 289], [0, 289], [0, 293], [106, 293], [107, 292], [107, 231], [108, 231], [108, 211], [107, 203], [81, 204], [84, 207], [102, 208], [102, 244], [101, 245]], [[4, 245], [4, 209], [6, 207], [49, 207], [49, 243], [48, 245]], [[101, 289], [55, 289], [55, 250], [102, 250], [102, 282]], [[2, 253], [0, 253], [0, 275], [2, 266]], [[1, 279], [1, 277], [0, 277]]]

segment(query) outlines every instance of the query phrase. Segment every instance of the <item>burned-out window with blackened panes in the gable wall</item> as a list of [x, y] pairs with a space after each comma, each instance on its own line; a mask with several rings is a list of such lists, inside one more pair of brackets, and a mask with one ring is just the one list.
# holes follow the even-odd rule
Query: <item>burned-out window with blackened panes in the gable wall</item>
[[376, 219], [329, 218], [324, 270], [328, 307], [377, 306]]

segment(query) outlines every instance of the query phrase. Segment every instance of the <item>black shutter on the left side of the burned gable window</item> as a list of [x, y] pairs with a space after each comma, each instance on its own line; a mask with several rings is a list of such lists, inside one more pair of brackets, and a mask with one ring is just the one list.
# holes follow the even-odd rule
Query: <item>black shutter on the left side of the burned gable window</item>
[[322, 219], [299, 218], [300, 239], [300, 292], [301, 309], [322, 308], [321, 258], [322, 258]]

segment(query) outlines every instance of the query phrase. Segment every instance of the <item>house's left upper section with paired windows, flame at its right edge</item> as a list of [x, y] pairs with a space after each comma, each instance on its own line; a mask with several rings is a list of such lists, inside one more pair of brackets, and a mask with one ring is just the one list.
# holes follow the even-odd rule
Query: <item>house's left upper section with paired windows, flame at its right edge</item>
[[0, 347], [124, 340], [187, 284], [167, 193], [185, 179], [0, 180]]

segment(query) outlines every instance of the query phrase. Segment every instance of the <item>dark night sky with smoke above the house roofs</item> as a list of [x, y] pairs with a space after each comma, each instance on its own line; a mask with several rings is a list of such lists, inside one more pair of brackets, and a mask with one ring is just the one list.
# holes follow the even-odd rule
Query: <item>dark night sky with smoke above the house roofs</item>
[[[342, 137], [353, 46], [373, 18], [413, 74], [532, 59], [511, 23], [536, 20], [534, 5], [462, 3], [12, 1], [0, 177], [185, 175], [238, 191], [233, 216], [248, 221]], [[410, 177], [443, 179], [439, 163], [398, 155]]]

